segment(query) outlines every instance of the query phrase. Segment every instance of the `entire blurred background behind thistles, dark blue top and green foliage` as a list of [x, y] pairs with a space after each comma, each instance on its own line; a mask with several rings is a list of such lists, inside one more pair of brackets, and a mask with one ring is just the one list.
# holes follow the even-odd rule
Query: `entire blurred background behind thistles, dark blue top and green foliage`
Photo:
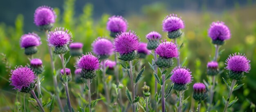
[[[256, 0], [1, 0], [0, 1], [0, 111], [11, 111], [14, 107], [17, 92], [9, 85], [10, 69], [16, 65], [27, 65], [28, 59], [24, 49], [20, 48], [19, 39], [23, 34], [35, 32], [40, 35], [42, 45], [38, 47], [39, 52], [34, 56], [41, 58], [45, 65], [45, 80], [43, 86], [53, 91], [52, 72], [49, 66], [49, 54], [47, 50], [46, 37], [34, 25], [34, 11], [37, 7], [47, 5], [54, 8], [57, 14], [55, 27], [70, 29], [74, 36], [74, 42], [84, 43], [83, 51], [91, 51], [91, 43], [99, 36], [109, 37], [110, 32], [106, 30], [106, 22], [112, 15], [121, 15], [128, 20], [128, 29], [137, 32], [141, 41], [147, 42], [145, 36], [150, 31], [158, 31], [163, 39], [167, 39], [167, 33], [162, 31], [162, 20], [165, 16], [175, 13], [184, 20], [185, 28], [182, 38], [178, 43], [183, 47], [180, 49], [181, 60], [187, 59], [185, 65], [191, 69], [195, 82], [202, 82], [206, 78], [206, 64], [214, 55], [214, 46], [207, 31], [213, 21], [223, 21], [230, 28], [231, 39], [220, 47], [220, 69], [224, 69], [225, 60], [229, 54], [244, 53], [251, 60], [252, 69], [246, 78], [238, 83], [245, 83], [242, 88], [235, 91], [231, 99], [238, 97], [238, 102], [233, 106], [234, 111], [251, 112], [250, 106], [256, 103]], [[66, 58], [69, 54], [65, 55]], [[57, 57], [57, 56], [56, 56]], [[154, 85], [154, 77], [149, 68], [153, 56], [143, 60], [146, 66], [144, 79], [141, 80], [139, 88], [146, 81], [151, 90]], [[74, 72], [75, 60], [71, 59], [67, 67]], [[61, 62], [56, 59], [56, 68], [61, 68]], [[169, 70], [171, 71], [171, 70]], [[227, 79], [226, 70], [218, 76], [216, 87], [216, 110], [222, 110], [222, 96], [227, 97], [228, 90], [222, 81]], [[100, 76], [99, 76], [100, 77]], [[110, 78], [113, 78], [110, 76]], [[114, 80], [115, 81], [115, 80]], [[126, 86], [128, 78], [123, 81]], [[168, 83], [168, 82], [167, 82]], [[191, 96], [192, 85], [186, 91], [185, 96]], [[103, 84], [95, 86], [92, 90], [102, 92]], [[153, 92], [153, 91], [152, 91]], [[22, 93], [19, 93], [22, 95]], [[142, 92], [139, 93], [140, 96]], [[47, 98], [47, 94], [45, 94]], [[124, 100], [126, 100], [123, 92]], [[73, 96], [74, 97], [74, 96]], [[189, 108], [193, 110], [192, 97], [189, 98]], [[50, 99], [50, 98], [49, 98]], [[98, 107], [97, 107], [98, 108]], [[99, 110], [103, 106], [99, 105]], [[57, 109], [57, 107], [56, 107]], [[204, 108], [202, 108], [204, 110]], [[189, 110], [187, 110], [189, 111]]]

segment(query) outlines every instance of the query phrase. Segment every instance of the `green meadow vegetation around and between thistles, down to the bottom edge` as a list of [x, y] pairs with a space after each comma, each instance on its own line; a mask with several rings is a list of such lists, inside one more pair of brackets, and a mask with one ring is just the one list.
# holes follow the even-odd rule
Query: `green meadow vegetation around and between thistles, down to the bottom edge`
[[[255, 101], [256, 97], [254, 93], [256, 92], [256, 70], [254, 69], [256, 66], [256, 5], [246, 5], [240, 7], [239, 4], [236, 4], [234, 9], [229, 9], [227, 11], [223, 11], [220, 13], [211, 12], [207, 10], [207, 7], [203, 7], [201, 11], [168, 11], [165, 8], [166, 6], [161, 3], [146, 5], [141, 8], [141, 15], [133, 15], [129, 14], [128, 16], [124, 16], [128, 21], [128, 31], [135, 31], [137, 36], [141, 39], [141, 42], [147, 43], [146, 34], [151, 31], [157, 31], [162, 35], [162, 39], [167, 39], [167, 41], [171, 41], [167, 37], [167, 33], [162, 31], [162, 20], [167, 15], [171, 13], [175, 13], [178, 17], [182, 17], [182, 20], [185, 23], [184, 29], [182, 29], [182, 36], [177, 39], [177, 44], [182, 45], [179, 49], [180, 52], [180, 60], [182, 65], [186, 66], [190, 69], [193, 76], [193, 81], [188, 86], [188, 90], [185, 91], [184, 96], [186, 100], [183, 102], [183, 111], [184, 112], [195, 112], [197, 108], [197, 101], [193, 99], [193, 84], [197, 82], [208, 81], [209, 77], [207, 76], [207, 62], [211, 61], [215, 55], [215, 47], [211, 43], [211, 38], [208, 36], [208, 29], [210, 24], [214, 21], [223, 21], [225, 25], [227, 25], [231, 32], [231, 38], [225, 41], [225, 44], [220, 47], [220, 54], [218, 58], [219, 69], [223, 70], [221, 74], [216, 76], [216, 84], [215, 87], [215, 96], [213, 99], [213, 107], [210, 112], [222, 111], [224, 109], [224, 104], [222, 102], [222, 96], [227, 98], [229, 91], [228, 88], [223, 81], [222, 77], [230, 83], [232, 80], [227, 77], [228, 70], [225, 69], [225, 60], [229, 57], [229, 54], [234, 54], [236, 52], [243, 53], [247, 56], [249, 60], [251, 60], [251, 70], [249, 73], [245, 74], [245, 78], [241, 81], [238, 81], [238, 85], [244, 83], [244, 85], [239, 89], [233, 92], [231, 95], [231, 99], [235, 99], [237, 97], [238, 101], [229, 108], [230, 112], [254, 112], [255, 109]], [[83, 7], [83, 13], [79, 16], [74, 16], [74, 0], [66, 0], [64, 4], [64, 10], [61, 14], [60, 9], [54, 8], [56, 12], [57, 18], [54, 23], [55, 27], [65, 27], [69, 29], [69, 31], [73, 35], [73, 42], [83, 43], [83, 54], [86, 52], [92, 52], [92, 43], [98, 37], [110, 37], [110, 31], [106, 29], [106, 23], [108, 22], [108, 18], [112, 15], [103, 14], [101, 18], [94, 19], [92, 11], [96, 7], [93, 7], [92, 4], [85, 4]], [[31, 13], [33, 15], [34, 13]], [[31, 16], [33, 17], [33, 16]], [[27, 34], [28, 32], [24, 32], [23, 29], [26, 27], [23, 24], [24, 17], [22, 14], [17, 15], [15, 26], [7, 26], [4, 23], [0, 23], [0, 58], [2, 59], [0, 63], [0, 111], [1, 112], [36, 112], [39, 111], [37, 107], [34, 108], [36, 102], [34, 99], [31, 99], [31, 94], [24, 94], [22, 92], [17, 92], [13, 90], [13, 87], [10, 85], [9, 78], [11, 76], [11, 69], [15, 69], [16, 65], [29, 65], [29, 56], [24, 54], [24, 49], [20, 48], [20, 37], [23, 34]], [[33, 21], [31, 21], [33, 22]], [[52, 78], [52, 69], [50, 66], [50, 54], [47, 48], [47, 38], [45, 36], [45, 32], [40, 31], [39, 29], [34, 29], [34, 31], [30, 31], [38, 34], [41, 38], [42, 45], [38, 46], [38, 52], [34, 55], [36, 58], [40, 58], [43, 61], [43, 65], [45, 66], [45, 72], [43, 72], [42, 76], [44, 77], [41, 81], [42, 88], [42, 98], [45, 102], [45, 110], [49, 112], [49, 108], [53, 107], [53, 112], [59, 112], [57, 101], [52, 104], [52, 95], [54, 94], [53, 87], [53, 78]], [[58, 55], [54, 56], [56, 73], [59, 73], [60, 69], [62, 69], [61, 61]], [[65, 54], [65, 58], [68, 59], [70, 57], [70, 52]], [[110, 56], [111, 60], [114, 60], [114, 55]], [[153, 105], [153, 101], [155, 100], [154, 90], [155, 90], [155, 77], [153, 74], [153, 70], [150, 68], [149, 63], [152, 62], [153, 55], [146, 56], [145, 59], [140, 59], [140, 63], [135, 67], [135, 73], [137, 74], [143, 66], [145, 66], [145, 71], [142, 74], [142, 78], [137, 83], [137, 92], [136, 96], [140, 96], [140, 99], [144, 98], [144, 94], [142, 92], [141, 87], [143, 87], [144, 83], [150, 87], [150, 104]], [[134, 63], [139, 59], [135, 59]], [[124, 61], [119, 60], [122, 63]], [[174, 60], [174, 63], [177, 63]], [[76, 65], [76, 58], [71, 57], [66, 67], [71, 69], [71, 73], [73, 76], [73, 80], [69, 82], [70, 87], [70, 99], [71, 104], [74, 110], [77, 112], [83, 112], [83, 109], [80, 108], [80, 104], [78, 101], [82, 99], [81, 102], [88, 104], [87, 99], [81, 98], [81, 94], [79, 94], [81, 90], [81, 86], [74, 82], [74, 70], [76, 69], [74, 66]], [[177, 65], [177, 64], [175, 64]], [[125, 112], [131, 111], [130, 103], [126, 97], [126, 87], [130, 90], [130, 78], [128, 77], [125, 69], [122, 69], [123, 66], [118, 64], [120, 81], [123, 88], [118, 88], [118, 83], [116, 83], [115, 75], [106, 75], [106, 82], [110, 87], [110, 96], [111, 101], [107, 103], [104, 92], [104, 83], [102, 82], [102, 72], [100, 70], [97, 71], [97, 78], [92, 80], [91, 84], [91, 96], [92, 99], [98, 99], [97, 103], [94, 106], [94, 112], [107, 112], [106, 105], [110, 105], [110, 112]], [[166, 74], [169, 74], [174, 67], [168, 69]], [[161, 76], [161, 73], [158, 73], [158, 76]], [[211, 79], [211, 78], [210, 78]], [[59, 81], [59, 76], [58, 76]], [[171, 87], [171, 81], [166, 80], [167, 88]], [[62, 102], [66, 102], [66, 94], [61, 82], [58, 82], [58, 85], [61, 89], [59, 94]], [[116, 86], [116, 87], [115, 87]], [[158, 91], [160, 91], [160, 85], [158, 85]], [[117, 92], [118, 90], [118, 92]], [[121, 91], [121, 92], [120, 92]], [[130, 90], [131, 91], [131, 90]], [[121, 93], [122, 105], [117, 100], [117, 93]], [[171, 94], [176, 94], [175, 90], [171, 92]], [[87, 91], [84, 92], [87, 95]], [[23, 108], [23, 98], [26, 96], [25, 104], [26, 109]], [[166, 110], [167, 112], [174, 112], [174, 108], [176, 104], [172, 104], [173, 99], [171, 98], [173, 95], [170, 95], [166, 99]], [[31, 98], [30, 98], [31, 97]], [[31, 101], [32, 100], [32, 101]], [[174, 101], [176, 102], [177, 99]], [[207, 111], [207, 101], [206, 99], [202, 102], [201, 112]], [[80, 103], [81, 103], [80, 102]], [[139, 101], [140, 102], [140, 101]], [[141, 103], [141, 102], [140, 102]], [[161, 102], [160, 102], [161, 103]], [[158, 110], [161, 111], [161, 104], [159, 103]], [[126, 110], [128, 108], [128, 110]], [[139, 106], [138, 106], [139, 107]], [[151, 108], [151, 106], [150, 106]], [[67, 107], [65, 107], [65, 110]], [[85, 108], [85, 110], [88, 110]], [[154, 110], [154, 109], [153, 109]], [[140, 108], [139, 112], [143, 112], [143, 109]], [[152, 111], [153, 112], [153, 111]], [[176, 111], [175, 111], [176, 112]]]

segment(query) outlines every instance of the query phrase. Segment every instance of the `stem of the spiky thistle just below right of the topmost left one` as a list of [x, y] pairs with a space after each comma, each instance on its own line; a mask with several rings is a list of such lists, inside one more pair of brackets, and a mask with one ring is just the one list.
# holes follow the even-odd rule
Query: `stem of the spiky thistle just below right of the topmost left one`
[[[64, 54], [60, 54], [60, 57], [61, 57], [61, 63], [62, 63], [64, 75], [67, 75], [66, 74], [65, 62], [64, 62]], [[72, 106], [71, 106], [71, 102], [70, 102], [70, 94], [69, 94], [69, 91], [68, 91], [68, 84], [67, 84], [67, 82], [64, 83], [65, 91], [66, 91], [66, 95], [67, 95], [67, 107], [70, 110], [70, 112], [72, 112]]]

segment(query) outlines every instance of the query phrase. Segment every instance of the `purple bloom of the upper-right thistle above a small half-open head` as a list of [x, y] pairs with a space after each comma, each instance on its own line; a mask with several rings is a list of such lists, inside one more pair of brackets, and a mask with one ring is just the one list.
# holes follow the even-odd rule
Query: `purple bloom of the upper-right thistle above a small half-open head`
[[224, 22], [212, 22], [208, 30], [208, 35], [212, 40], [227, 40], [230, 38], [229, 27]]

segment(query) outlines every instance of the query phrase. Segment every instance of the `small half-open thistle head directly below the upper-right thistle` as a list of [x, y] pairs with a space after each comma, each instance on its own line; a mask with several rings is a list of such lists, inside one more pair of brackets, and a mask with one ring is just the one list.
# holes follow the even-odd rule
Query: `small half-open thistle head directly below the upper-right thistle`
[[218, 62], [211, 61], [207, 63], [207, 74], [210, 76], [217, 75], [219, 73]]

